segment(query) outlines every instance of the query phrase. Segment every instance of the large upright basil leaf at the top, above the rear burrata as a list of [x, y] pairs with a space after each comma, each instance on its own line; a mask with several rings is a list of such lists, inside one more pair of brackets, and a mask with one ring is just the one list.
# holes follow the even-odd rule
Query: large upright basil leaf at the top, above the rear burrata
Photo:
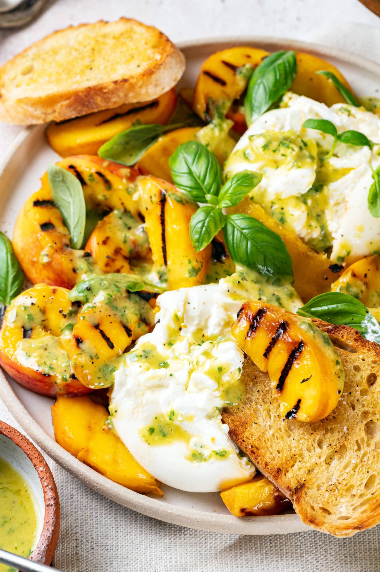
[[244, 100], [248, 126], [284, 95], [296, 75], [297, 60], [294, 51], [276, 51], [262, 60], [250, 76]]

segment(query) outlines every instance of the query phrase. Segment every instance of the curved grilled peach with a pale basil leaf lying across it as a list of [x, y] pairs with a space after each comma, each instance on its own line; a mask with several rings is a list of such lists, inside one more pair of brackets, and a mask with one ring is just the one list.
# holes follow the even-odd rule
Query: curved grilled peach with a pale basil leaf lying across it
[[[88, 214], [101, 216], [120, 209], [138, 219], [139, 206], [133, 198], [138, 170], [95, 156], [68, 157], [58, 165], [81, 182]], [[100, 267], [91, 252], [70, 248], [70, 235], [52, 200], [46, 173], [41, 181], [41, 189], [18, 215], [13, 235], [15, 255], [32, 283], [72, 288], [83, 274], [100, 272]]]

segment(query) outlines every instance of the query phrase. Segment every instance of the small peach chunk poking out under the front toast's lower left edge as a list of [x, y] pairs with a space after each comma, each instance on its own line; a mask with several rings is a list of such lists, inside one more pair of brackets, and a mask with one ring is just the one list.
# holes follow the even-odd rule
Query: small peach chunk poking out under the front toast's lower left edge
[[292, 506], [292, 502], [264, 475], [227, 488], [220, 496], [235, 517], [269, 516]]

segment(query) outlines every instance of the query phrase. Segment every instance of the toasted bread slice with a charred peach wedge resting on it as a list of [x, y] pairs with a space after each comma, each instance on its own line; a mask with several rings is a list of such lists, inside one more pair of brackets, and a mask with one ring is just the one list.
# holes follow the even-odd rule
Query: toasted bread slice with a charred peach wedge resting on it
[[246, 358], [245, 396], [223, 420], [303, 522], [347, 537], [380, 522], [380, 347], [353, 328], [314, 322], [332, 339], [346, 373], [332, 414], [316, 423], [283, 421], [268, 375]]

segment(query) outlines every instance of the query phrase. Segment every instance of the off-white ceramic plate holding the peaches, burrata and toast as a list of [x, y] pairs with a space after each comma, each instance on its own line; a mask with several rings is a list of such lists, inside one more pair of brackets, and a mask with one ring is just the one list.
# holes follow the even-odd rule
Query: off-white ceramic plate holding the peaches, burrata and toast
[[[294, 49], [318, 55], [332, 62], [345, 75], [359, 96], [376, 96], [380, 66], [357, 55], [313, 44], [270, 38], [227, 38], [181, 45], [187, 68], [180, 86], [195, 85], [201, 63], [217, 50], [237, 45], [268, 51]], [[39, 189], [39, 178], [48, 161], [58, 156], [48, 146], [45, 126], [25, 129], [11, 145], [0, 167], [0, 229], [12, 236], [15, 219], [23, 202]], [[8, 381], [7, 381], [8, 379]], [[130, 491], [99, 475], [55, 442], [50, 407], [53, 400], [19, 386], [0, 371], [0, 395], [15, 419], [40, 447], [72, 475], [104, 496], [139, 513], [195, 529], [234, 534], [285, 534], [306, 530], [296, 514], [276, 517], [245, 517], [229, 514], [219, 493], [194, 494], [163, 486], [162, 499]]]

